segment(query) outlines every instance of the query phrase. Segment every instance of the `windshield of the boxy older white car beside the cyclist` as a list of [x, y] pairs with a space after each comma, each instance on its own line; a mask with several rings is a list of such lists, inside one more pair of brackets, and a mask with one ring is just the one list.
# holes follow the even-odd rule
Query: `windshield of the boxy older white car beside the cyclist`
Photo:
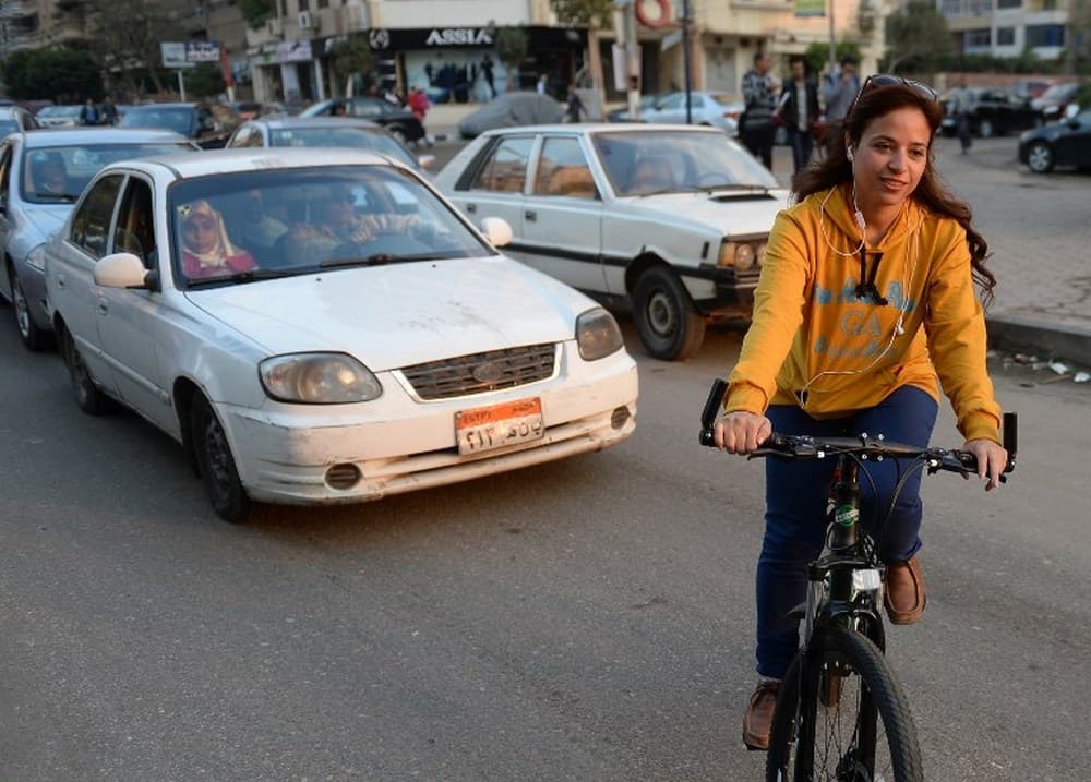
[[767, 168], [724, 133], [604, 132], [594, 140], [618, 195], [779, 187]]

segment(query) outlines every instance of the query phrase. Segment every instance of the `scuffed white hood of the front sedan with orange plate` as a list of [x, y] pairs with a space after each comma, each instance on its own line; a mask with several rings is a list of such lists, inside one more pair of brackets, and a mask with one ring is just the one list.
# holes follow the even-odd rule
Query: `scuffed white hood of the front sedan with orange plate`
[[373, 372], [572, 339], [575, 316], [595, 306], [503, 256], [329, 269], [185, 296], [271, 354], [344, 351]]

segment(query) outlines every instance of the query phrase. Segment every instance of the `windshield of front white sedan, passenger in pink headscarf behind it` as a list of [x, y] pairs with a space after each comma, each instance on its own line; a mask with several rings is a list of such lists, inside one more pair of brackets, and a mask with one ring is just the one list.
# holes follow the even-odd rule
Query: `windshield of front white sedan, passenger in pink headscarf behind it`
[[183, 180], [168, 197], [176, 278], [196, 288], [494, 251], [412, 173], [316, 166]]

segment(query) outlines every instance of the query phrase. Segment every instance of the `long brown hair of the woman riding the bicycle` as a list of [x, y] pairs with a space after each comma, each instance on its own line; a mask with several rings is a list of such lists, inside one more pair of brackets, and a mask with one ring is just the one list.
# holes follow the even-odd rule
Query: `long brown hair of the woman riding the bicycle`
[[[939, 123], [943, 120], [943, 107], [938, 100], [926, 97], [918, 87], [908, 84], [889, 84], [867, 86], [862, 88], [855, 105], [849, 115], [840, 122], [830, 122], [823, 141], [825, 154], [810, 166], [799, 171], [792, 179], [792, 194], [796, 202], [803, 201], [812, 193], [829, 190], [852, 181], [852, 164], [846, 154], [846, 136], [853, 143], [863, 137], [867, 125], [876, 118], [888, 115], [896, 109], [920, 109], [932, 130], [932, 139], [936, 137]], [[935, 159], [932, 156], [932, 142], [928, 142], [928, 163], [924, 173], [910, 196], [922, 206], [938, 215], [945, 215], [958, 221], [966, 229], [966, 242], [970, 248], [970, 263], [973, 268], [973, 279], [981, 286], [982, 299], [987, 304], [993, 298], [996, 277], [985, 268], [988, 257], [988, 244], [971, 221], [973, 215], [970, 205], [955, 197], [950, 189], [936, 171]]]

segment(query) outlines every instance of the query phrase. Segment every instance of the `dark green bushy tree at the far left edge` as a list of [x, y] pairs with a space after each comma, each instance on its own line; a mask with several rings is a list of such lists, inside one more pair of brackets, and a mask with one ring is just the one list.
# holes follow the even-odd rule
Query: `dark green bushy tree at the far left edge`
[[2, 63], [0, 73], [13, 98], [74, 100], [103, 97], [98, 64], [86, 51], [75, 49], [21, 49]]

